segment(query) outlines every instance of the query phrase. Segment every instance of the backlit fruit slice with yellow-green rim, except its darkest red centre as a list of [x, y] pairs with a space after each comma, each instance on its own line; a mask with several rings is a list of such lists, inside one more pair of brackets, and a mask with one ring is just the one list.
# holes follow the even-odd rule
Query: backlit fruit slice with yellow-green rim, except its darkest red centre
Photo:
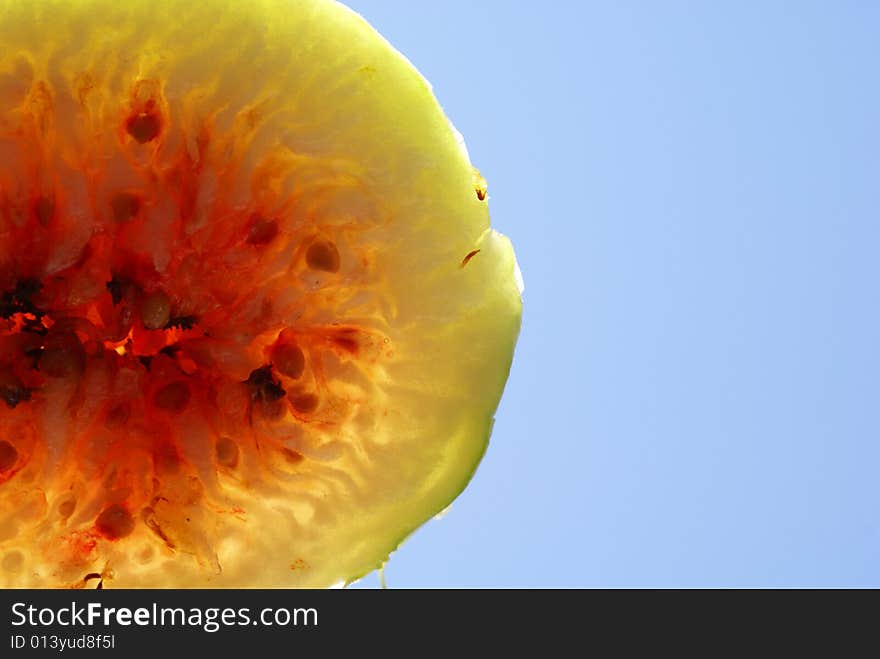
[[[519, 329], [513, 250], [427, 82], [317, 0], [2, 2], [0, 44], [0, 206], [51, 192], [65, 218], [41, 275], [128, 231], [170, 296], [144, 297], [147, 329], [163, 333], [169, 304], [223, 319], [193, 348], [215, 364], [216, 397], [195, 391], [182, 411], [135, 407], [114, 430], [96, 410], [108, 391], [136, 398], [148, 380], [134, 367], [102, 380], [88, 366], [0, 404], [18, 454], [0, 479], [0, 585], [329, 586], [379, 567], [469, 481]], [[144, 94], [166, 123], [140, 143], [125, 122]], [[144, 219], [104, 217], [124, 190], [144, 191]], [[247, 233], [257, 210], [278, 223], [265, 244], [265, 227]], [[0, 217], [0, 266], [20, 249], [17, 221]], [[338, 250], [337, 272], [316, 242]], [[337, 327], [356, 354], [328, 339]], [[305, 357], [280, 378], [288, 399], [318, 406], [285, 399], [280, 417], [245, 423], [241, 381], [280, 361], [269, 347], [284, 331]], [[151, 399], [166, 411], [169, 391]], [[181, 453], [164, 470], [161, 433]], [[95, 458], [114, 446], [121, 463]], [[134, 527], [111, 540], [94, 529], [115, 501]]]

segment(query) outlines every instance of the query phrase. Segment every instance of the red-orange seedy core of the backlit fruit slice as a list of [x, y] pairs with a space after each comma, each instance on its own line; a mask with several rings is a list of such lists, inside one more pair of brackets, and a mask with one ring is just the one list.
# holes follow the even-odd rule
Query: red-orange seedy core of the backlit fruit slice
[[64, 452], [36, 505], [77, 518], [54, 545], [71, 574], [141, 523], [210, 562], [195, 516], [211, 484], [244, 462], [301, 469], [273, 426], [338, 421], [351, 406], [327, 393], [333, 370], [391, 354], [375, 327], [335, 322], [345, 296], [326, 293], [368, 254], [278, 195], [271, 158], [255, 201], [227, 201], [240, 136], [175, 127], [162, 87], [135, 81], [104, 113], [109, 149], [59, 154], [37, 81], [0, 140], [0, 483]]

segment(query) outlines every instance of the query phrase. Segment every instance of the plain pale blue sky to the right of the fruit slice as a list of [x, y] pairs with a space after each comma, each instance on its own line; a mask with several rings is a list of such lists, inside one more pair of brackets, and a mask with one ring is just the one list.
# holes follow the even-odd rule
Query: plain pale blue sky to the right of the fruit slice
[[526, 282], [489, 451], [389, 586], [880, 586], [880, 4], [347, 4]]

